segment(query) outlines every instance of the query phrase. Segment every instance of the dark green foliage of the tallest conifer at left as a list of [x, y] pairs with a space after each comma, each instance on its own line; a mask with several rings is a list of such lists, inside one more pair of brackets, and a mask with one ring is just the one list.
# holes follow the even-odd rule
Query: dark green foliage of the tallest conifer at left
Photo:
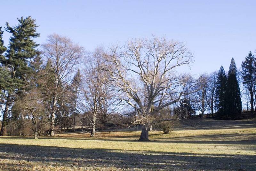
[[11, 33], [12, 37], [10, 38], [5, 58], [0, 58], [0, 63], [8, 68], [13, 79], [12, 82], [9, 82], [9, 85], [6, 85], [9, 94], [14, 90], [19, 90], [26, 84], [25, 75], [31, 72], [31, 68], [28, 66], [28, 59], [34, 58], [37, 53], [35, 48], [39, 45], [32, 39], [40, 35], [36, 33], [35, 19], [21, 17], [18, 21], [19, 24], [14, 27], [10, 27], [6, 22], [5, 30]]

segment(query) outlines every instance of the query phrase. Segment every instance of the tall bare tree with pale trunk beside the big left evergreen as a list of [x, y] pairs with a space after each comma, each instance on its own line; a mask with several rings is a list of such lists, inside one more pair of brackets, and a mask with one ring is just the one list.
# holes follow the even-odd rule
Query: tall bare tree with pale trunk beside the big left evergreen
[[54, 136], [54, 125], [56, 117], [56, 105], [58, 97], [61, 97], [66, 90], [66, 84], [71, 81], [71, 74], [80, 63], [84, 54], [84, 48], [73, 43], [69, 38], [57, 34], [49, 35], [43, 47], [43, 56], [46, 61], [52, 64], [52, 73], [45, 73], [51, 82], [52, 104], [50, 106], [51, 136]]

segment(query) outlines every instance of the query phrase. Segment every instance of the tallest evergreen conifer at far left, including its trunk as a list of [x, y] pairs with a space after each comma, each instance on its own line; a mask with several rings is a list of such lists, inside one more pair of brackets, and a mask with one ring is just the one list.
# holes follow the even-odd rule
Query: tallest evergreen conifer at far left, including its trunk
[[5, 58], [0, 59], [0, 63], [6, 69], [6, 76], [9, 81], [6, 82], [4, 90], [2, 90], [5, 102], [3, 112], [3, 122], [0, 136], [7, 135], [6, 124], [9, 120], [9, 109], [20, 89], [26, 85], [25, 75], [31, 70], [28, 63], [29, 60], [34, 58], [39, 44], [34, 42], [33, 38], [39, 37], [40, 34], [36, 33], [35, 19], [31, 17], [18, 19], [19, 24], [11, 27], [6, 22], [5, 30], [12, 34]]

